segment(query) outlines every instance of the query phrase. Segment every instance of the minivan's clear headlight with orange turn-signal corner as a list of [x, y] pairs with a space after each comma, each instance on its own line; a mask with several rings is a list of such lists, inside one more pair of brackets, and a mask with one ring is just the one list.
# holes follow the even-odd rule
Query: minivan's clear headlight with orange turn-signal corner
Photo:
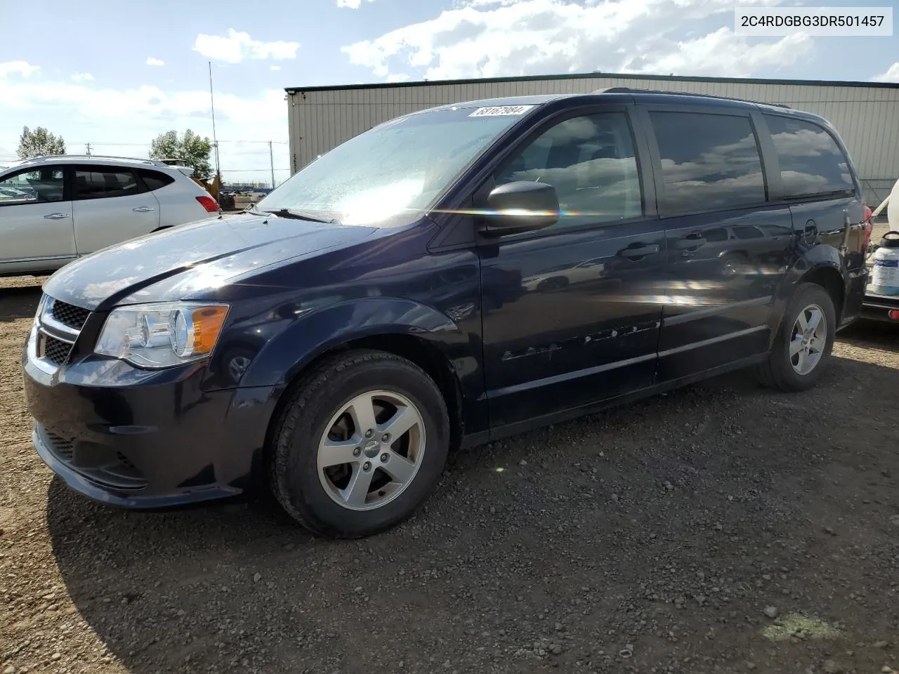
[[138, 368], [189, 363], [215, 348], [227, 311], [227, 305], [195, 302], [122, 306], [107, 316], [93, 351]]

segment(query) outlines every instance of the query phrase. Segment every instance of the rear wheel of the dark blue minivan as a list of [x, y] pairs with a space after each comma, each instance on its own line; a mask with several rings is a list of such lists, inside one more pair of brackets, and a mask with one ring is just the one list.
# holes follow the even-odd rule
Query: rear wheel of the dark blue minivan
[[836, 311], [827, 291], [802, 283], [784, 312], [768, 359], [759, 367], [765, 386], [805, 391], [822, 377], [833, 349]]

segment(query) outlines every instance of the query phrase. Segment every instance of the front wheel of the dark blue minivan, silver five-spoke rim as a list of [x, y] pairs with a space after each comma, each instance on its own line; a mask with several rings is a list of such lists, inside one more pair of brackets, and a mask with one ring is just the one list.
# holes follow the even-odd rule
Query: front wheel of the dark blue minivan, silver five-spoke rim
[[273, 442], [271, 483], [284, 510], [321, 536], [362, 537], [407, 519], [432, 491], [449, 418], [421, 368], [358, 350], [304, 377]]

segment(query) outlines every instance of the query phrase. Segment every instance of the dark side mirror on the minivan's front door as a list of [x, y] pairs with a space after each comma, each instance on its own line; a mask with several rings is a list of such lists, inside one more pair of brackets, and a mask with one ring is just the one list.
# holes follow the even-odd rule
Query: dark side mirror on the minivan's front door
[[559, 219], [556, 188], [545, 182], [509, 182], [487, 196], [481, 234], [502, 236], [555, 225]]

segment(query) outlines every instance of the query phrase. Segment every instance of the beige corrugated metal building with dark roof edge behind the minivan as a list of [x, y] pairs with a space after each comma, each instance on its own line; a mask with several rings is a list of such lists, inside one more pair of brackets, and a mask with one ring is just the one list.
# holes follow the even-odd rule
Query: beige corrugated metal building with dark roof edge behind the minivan
[[290, 170], [295, 173], [344, 140], [408, 112], [503, 96], [590, 93], [610, 86], [780, 103], [822, 115], [849, 147], [872, 208], [899, 177], [899, 84], [600, 73], [289, 88]]

